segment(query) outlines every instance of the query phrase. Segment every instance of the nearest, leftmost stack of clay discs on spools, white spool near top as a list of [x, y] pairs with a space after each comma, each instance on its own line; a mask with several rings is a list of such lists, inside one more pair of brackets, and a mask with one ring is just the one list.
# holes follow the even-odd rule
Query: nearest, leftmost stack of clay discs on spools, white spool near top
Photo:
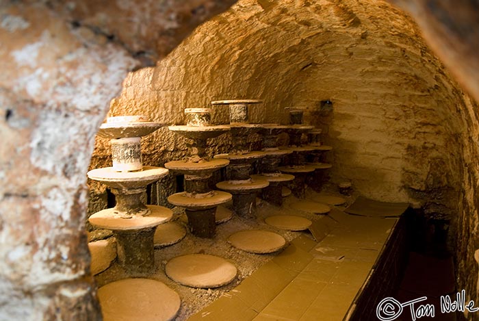
[[146, 121], [144, 116], [107, 118], [99, 136], [110, 138], [113, 166], [97, 168], [88, 177], [105, 183], [116, 196], [116, 205], [90, 216], [94, 227], [114, 232], [118, 261], [130, 274], [148, 274], [155, 270], [153, 235], [157, 225], [172, 218], [172, 211], [141, 201], [146, 185], [168, 174], [166, 168], [142, 166], [142, 136], [162, 127]]

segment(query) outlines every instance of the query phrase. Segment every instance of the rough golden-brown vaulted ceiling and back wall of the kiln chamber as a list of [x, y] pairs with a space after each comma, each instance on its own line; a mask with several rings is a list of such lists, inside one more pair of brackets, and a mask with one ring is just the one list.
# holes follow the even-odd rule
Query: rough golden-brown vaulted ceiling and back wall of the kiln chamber
[[[309, 107], [308, 120], [335, 149], [333, 181], [437, 217], [456, 210], [460, 165], [450, 155], [459, 153], [461, 127], [451, 115], [462, 92], [415, 23], [385, 1], [239, 1], [157, 67], [130, 74], [110, 114], [182, 123], [185, 107], [235, 97], [264, 100], [253, 107], [255, 123], [285, 123], [283, 107]], [[333, 112], [321, 110], [325, 99]], [[214, 108], [225, 123], [226, 109]], [[166, 129], [144, 142], [151, 164], [184, 153]], [[107, 164], [103, 144], [95, 154]]]

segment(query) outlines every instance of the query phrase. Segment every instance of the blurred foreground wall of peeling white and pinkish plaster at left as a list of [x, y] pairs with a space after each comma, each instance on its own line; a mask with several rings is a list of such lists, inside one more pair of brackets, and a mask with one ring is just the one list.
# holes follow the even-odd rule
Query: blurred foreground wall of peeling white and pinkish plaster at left
[[90, 2], [0, 1], [0, 320], [101, 320], [84, 224], [96, 130], [148, 64], [138, 52], [162, 57], [233, 1]]

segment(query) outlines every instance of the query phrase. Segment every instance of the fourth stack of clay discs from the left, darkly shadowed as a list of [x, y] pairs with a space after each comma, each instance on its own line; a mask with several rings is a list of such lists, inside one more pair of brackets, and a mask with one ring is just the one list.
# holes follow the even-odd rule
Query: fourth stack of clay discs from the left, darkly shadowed
[[266, 179], [270, 185], [263, 188], [263, 199], [269, 203], [281, 206], [283, 204], [283, 183], [294, 180], [293, 175], [283, 174], [278, 170], [281, 159], [293, 151], [278, 148], [278, 136], [285, 131], [287, 126], [281, 125], [261, 125], [259, 133], [263, 136], [263, 153], [265, 157], [261, 159], [259, 166], [261, 174], [253, 175], [254, 179]]

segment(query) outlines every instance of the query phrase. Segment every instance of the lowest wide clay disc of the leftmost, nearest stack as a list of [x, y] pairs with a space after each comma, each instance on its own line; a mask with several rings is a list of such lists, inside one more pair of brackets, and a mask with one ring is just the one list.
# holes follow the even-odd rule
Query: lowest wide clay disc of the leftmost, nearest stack
[[171, 209], [159, 205], [146, 205], [151, 213], [148, 216], [134, 215], [132, 218], [121, 218], [115, 214], [115, 209], [103, 209], [88, 220], [92, 225], [100, 229], [111, 229], [112, 231], [127, 231], [155, 227], [161, 223], [168, 222], [173, 216]]

